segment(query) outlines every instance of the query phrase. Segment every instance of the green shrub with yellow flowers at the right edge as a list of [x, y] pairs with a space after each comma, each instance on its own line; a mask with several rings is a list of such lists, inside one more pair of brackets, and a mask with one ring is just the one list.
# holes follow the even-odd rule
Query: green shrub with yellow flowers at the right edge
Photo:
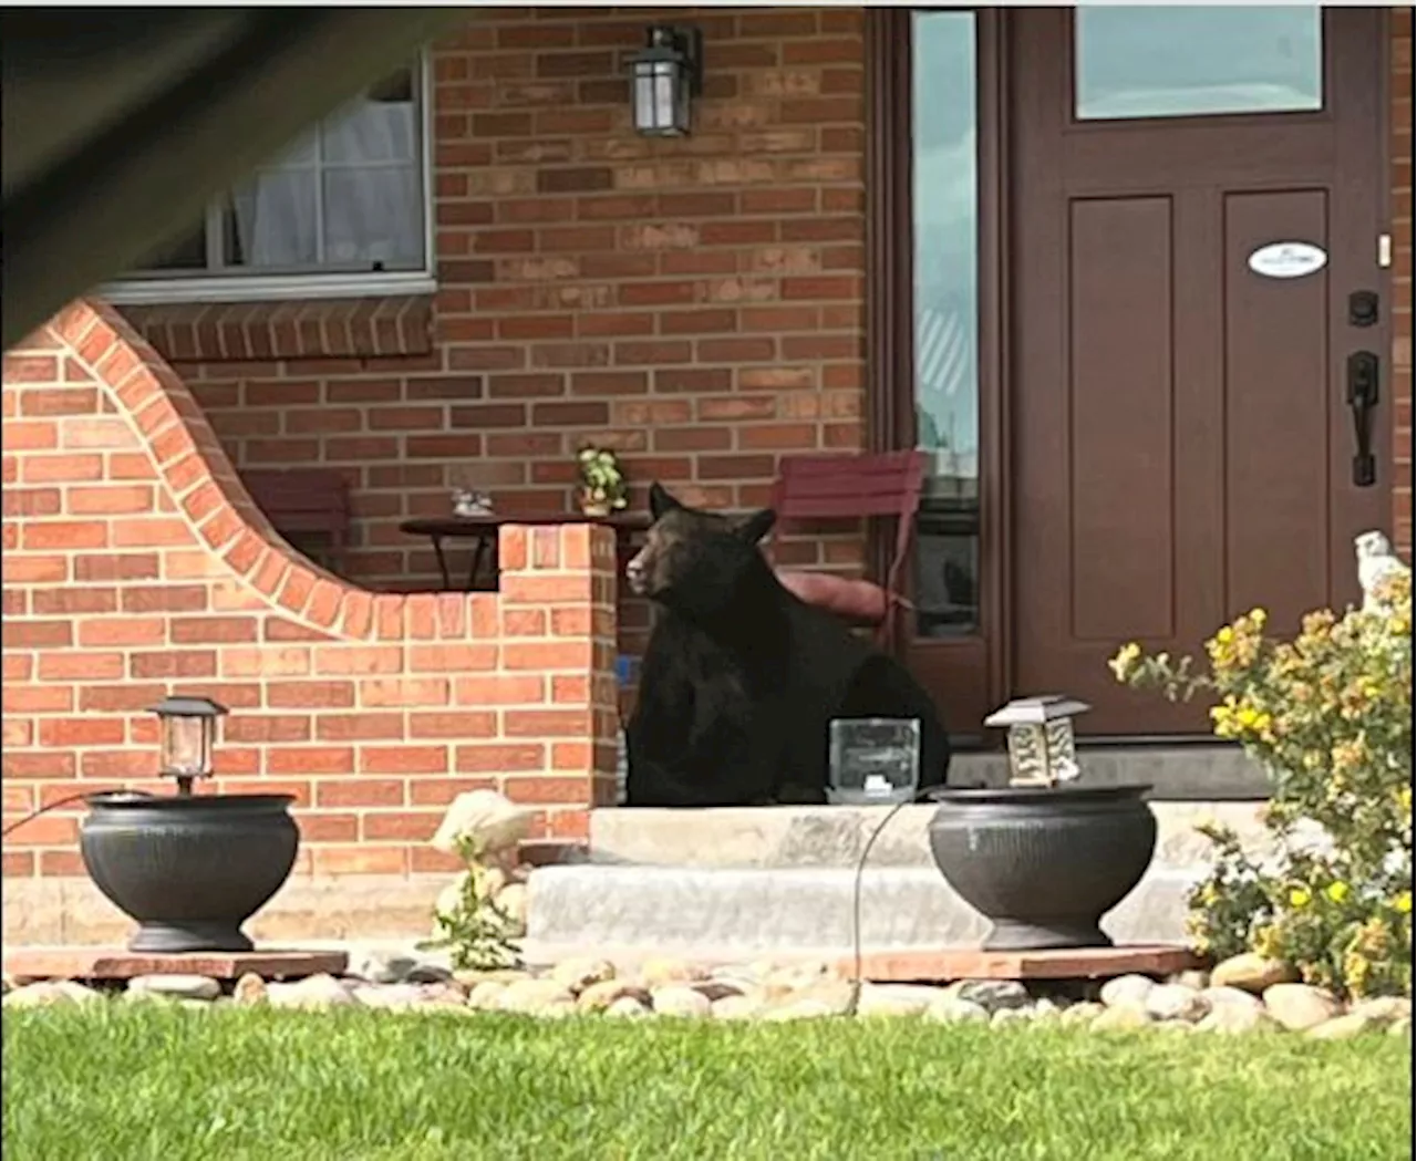
[[1190, 895], [1199, 950], [1258, 951], [1350, 995], [1411, 994], [1411, 578], [1384, 583], [1372, 609], [1309, 613], [1292, 641], [1267, 637], [1255, 609], [1206, 643], [1204, 671], [1136, 644], [1111, 661], [1127, 685], [1206, 694], [1214, 733], [1272, 780], [1277, 857], [1257, 861], [1229, 828], [1200, 828], [1216, 861]]

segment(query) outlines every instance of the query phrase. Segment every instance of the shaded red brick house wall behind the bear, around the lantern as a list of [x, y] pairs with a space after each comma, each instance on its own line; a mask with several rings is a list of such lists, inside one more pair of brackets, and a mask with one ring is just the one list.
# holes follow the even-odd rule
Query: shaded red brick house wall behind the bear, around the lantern
[[[682, 140], [631, 127], [625, 62], [659, 18], [704, 34]], [[640, 488], [748, 507], [777, 453], [860, 445], [860, 11], [485, 10], [432, 64], [427, 354], [203, 361], [200, 327], [150, 331], [238, 466], [349, 476], [351, 578], [436, 582], [398, 522], [446, 514], [472, 460], [507, 510], [564, 511], [588, 442]], [[853, 535], [816, 537], [785, 559], [859, 555]]]

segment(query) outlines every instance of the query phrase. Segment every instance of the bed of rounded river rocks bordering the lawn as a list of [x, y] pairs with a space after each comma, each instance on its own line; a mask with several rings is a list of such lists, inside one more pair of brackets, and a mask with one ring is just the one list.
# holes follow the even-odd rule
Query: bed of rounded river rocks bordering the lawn
[[1318, 1039], [1360, 1034], [1410, 1035], [1411, 1001], [1377, 997], [1345, 1005], [1281, 967], [1240, 956], [1213, 973], [1168, 980], [1121, 976], [1078, 981], [958, 980], [859, 988], [828, 964], [760, 961], [701, 964], [648, 960], [616, 968], [609, 960], [571, 959], [541, 968], [453, 970], [417, 953], [357, 951], [343, 977], [292, 983], [245, 976], [234, 984], [205, 976], [139, 976], [102, 981], [6, 981], [4, 1007], [102, 1002], [180, 1004], [188, 1008], [269, 1007], [323, 1011], [380, 1008], [476, 1017], [514, 1012], [538, 1018], [672, 1018], [796, 1021], [888, 1017], [939, 1024], [1064, 1025], [1094, 1031], [1302, 1032]]

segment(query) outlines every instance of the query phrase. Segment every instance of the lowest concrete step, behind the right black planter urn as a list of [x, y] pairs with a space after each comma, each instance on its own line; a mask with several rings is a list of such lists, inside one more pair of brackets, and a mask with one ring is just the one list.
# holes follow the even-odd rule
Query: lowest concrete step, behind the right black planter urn
[[[1102, 923], [1118, 942], [1180, 942], [1195, 872], [1153, 864]], [[531, 876], [529, 949], [653, 949], [706, 960], [850, 954], [853, 872], [845, 868], [546, 867]], [[972, 946], [988, 930], [934, 868], [887, 867], [862, 879], [870, 950]], [[604, 954], [604, 951], [602, 951]]]

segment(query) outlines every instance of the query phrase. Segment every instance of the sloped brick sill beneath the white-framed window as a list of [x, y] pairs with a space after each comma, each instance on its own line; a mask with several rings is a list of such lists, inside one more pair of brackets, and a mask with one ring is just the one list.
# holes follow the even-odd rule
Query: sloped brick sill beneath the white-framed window
[[169, 362], [400, 358], [432, 351], [432, 283], [424, 293], [256, 302], [102, 296]]

